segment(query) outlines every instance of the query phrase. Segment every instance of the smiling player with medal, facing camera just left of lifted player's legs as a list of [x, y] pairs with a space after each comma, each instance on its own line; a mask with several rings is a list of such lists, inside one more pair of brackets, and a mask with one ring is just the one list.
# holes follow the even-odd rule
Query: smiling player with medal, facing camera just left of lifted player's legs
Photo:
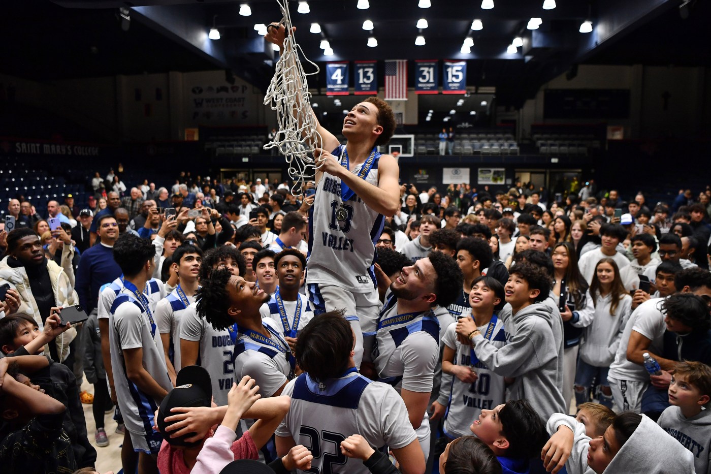
[[274, 257], [274, 267], [279, 278], [279, 288], [272, 295], [272, 299], [262, 305], [260, 312], [262, 318], [270, 317], [277, 325], [282, 325], [284, 339], [293, 350], [296, 335], [314, 317], [308, 298], [299, 293], [301, 277], [306, 269], [306, 258], [295, 248], [287, 248]]

